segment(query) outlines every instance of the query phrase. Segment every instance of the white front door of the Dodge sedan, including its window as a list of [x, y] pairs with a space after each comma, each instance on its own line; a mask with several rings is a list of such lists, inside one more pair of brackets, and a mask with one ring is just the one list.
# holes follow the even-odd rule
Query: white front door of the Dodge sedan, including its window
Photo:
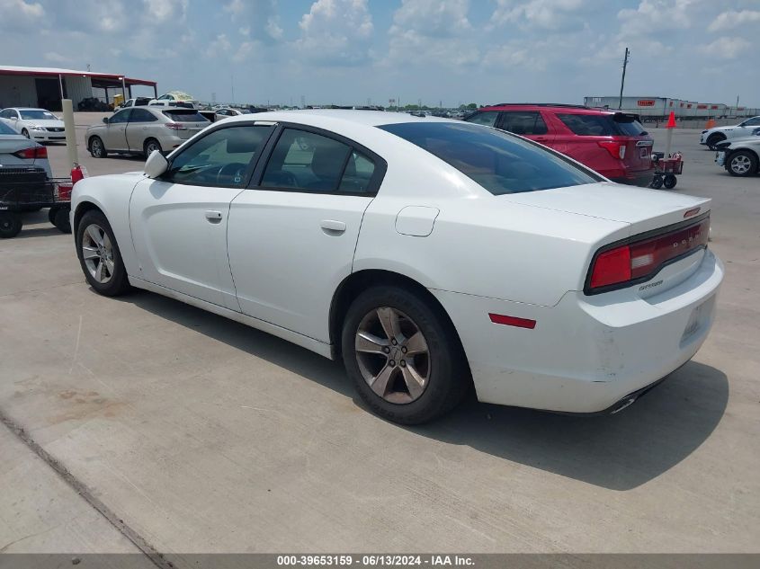
[[239, 311], [227, 259], [229, 204], [245, 187], [272, 126], [214, 129], [132, 191], [140, 278]]

